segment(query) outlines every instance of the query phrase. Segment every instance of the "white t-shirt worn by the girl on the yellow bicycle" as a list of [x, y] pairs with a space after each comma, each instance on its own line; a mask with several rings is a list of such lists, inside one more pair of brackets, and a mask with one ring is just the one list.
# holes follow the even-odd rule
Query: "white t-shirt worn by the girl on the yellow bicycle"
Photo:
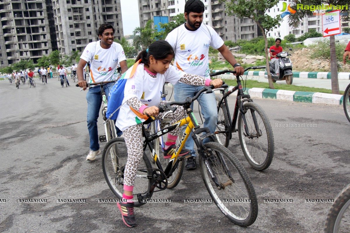
[[[132, 67], [130, 68], [132, 69]], [[165, 82], [177, 83], [186, 73], [176, 70], [172, 65], [169, 66], [165, 74], [157, 74], [157, 78], [151, 77], [147, 71], [144, 70], [144, 64], [139, 64], [133, 77], [129, 78], [125, 83], [124, 99], [127, 101], [132, 97], [137, 97], [141, 103], [151, 106], [158, 106], [160, 103], [161, 92]], [[137, 125], [145, 122], [142, 114], [124, 103], [119, 110], [116, 121], [116, 126], [124, 131], [132, 125]]]

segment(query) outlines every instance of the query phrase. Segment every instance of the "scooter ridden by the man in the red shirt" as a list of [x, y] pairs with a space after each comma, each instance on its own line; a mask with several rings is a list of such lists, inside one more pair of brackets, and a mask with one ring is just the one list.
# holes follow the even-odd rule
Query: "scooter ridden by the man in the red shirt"
[[[291, 51], [292, 49], [289, 48]], [[271, 50], [271, 52], [274, 52], [275, 50]], [[288, 52], [280, 52], [277, 54], [277, 57], [279, 57], [278, 64], [280, 66], [280, 74], [279, 76], [273, 75], [275, 72], [275, 64], [273, 64], [271, 61], [269, 61], [270, 66], [270, 73], [272, 77], [272, 82], [286, 80], [286, 83], [288, 85], [293, 83], [293, 72], [292, 72], [292, 61], [288, 58], [289, 55], [292, 55]], [[266, 71], [266, 68], [265, 68]], [[267, 74], [265, 74], [265, 78], [268, 79]]]

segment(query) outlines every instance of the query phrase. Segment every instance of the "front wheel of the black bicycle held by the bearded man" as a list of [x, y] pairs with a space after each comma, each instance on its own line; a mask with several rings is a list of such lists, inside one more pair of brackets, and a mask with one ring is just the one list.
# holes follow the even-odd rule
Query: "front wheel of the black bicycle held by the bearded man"
[[[262, 171], [271, 165], [274, 154], [273, 133], [270, 122], [259, 105], [248, 102], [244, 104], [246, 127], [250, 137], [245, 136], [245, 129], [241, 112], [238, 114], [238, 137], [242, 151], [249, 164], [256, 170]], [[261, 135], [258, 136], [254, 126], [253, 114], [256, 117]], [[262, 128], [264, 127], [264, 128]], [[254, 132], [254, 133], [253, 133]]]

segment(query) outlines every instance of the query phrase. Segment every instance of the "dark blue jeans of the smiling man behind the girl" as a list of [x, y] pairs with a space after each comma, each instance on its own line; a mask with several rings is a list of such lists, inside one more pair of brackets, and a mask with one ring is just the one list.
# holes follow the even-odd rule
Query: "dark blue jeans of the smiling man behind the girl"
[[[103, 89], [108, 96], [109, 91], [112, 89], [114, 83], [110, 83], [103, 86]], [[91, 87], [86, 94], [87, 100], [87, 129], [90, 136], [90, 150], [97, 151], [100, 148], [98, 144], [98, 131], [97, 131], [97, 119], [102, 104], [101, 96], [102, 86]], [[117, 136], [120, 137], [123, 134], [117, 127]]]

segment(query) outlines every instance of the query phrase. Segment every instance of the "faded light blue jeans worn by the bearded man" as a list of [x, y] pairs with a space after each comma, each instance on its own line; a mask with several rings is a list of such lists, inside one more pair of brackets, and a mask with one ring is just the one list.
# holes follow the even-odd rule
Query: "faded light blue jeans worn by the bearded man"
[[[175, 101], [184, 101], [187, 97], [194, 97], [197, 92], [202, 89], [203, 86], [192, 86], [185, 83], [178, 82], [174, 85], [174, 98]], [[210, 93], [202, 93], [197, 101], [201, 106], [202, 115], [204, 117], [204, 127], [209, 128], [210, 133], [214, 133], [216, 129], [216, 123], [218, 118], [218, 113], [216, 109], [216, 100], [215, 94]], [[191, 103], [191, 109], [193, 110], [193, 102]], [[182, 127], [184, 131], [186, 129], [186, 125]], [[205, 140], [203, 141], [205, 142]], [[191, 151], [192, 156], [196, 156], [196, 152], [194, 150], [194, 140], [191, 135], [188, 137], [186, 141], [186, 149]]]

